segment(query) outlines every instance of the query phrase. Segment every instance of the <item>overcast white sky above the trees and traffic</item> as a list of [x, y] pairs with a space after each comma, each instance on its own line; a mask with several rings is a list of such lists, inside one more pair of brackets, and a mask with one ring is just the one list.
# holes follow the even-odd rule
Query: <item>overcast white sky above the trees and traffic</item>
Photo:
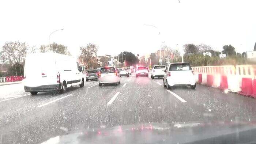
[[2, 0], [0, 46], [19, 40], [39, 48], [49, 43], [52, 31], [64, 28], [50, 42], [68, 46], [73, 56], [87, 43], [99, 46], [98, 55], [123, 50], [149, 54], [159, 49], [161, 41], [171, 47], [179, 44], [180, 49], [185, 43], [206, 43], [217, 50], [228, 44], [237, 52], [253, 50], [255, 0], [180, 1]]

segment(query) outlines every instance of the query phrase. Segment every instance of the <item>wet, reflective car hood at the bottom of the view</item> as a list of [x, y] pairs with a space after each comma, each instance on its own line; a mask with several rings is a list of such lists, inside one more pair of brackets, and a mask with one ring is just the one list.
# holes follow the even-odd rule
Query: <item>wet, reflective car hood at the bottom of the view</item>
[[[84, 129], [50, 138], [44, 143], [237, 143], [256, 142], [255, 122], [146, 123]], [[245, 138], [245, 136], [247, 136]], [[229, 141], [230, 140], [230, 141]], [[245, 141], [246, 140], [246, 141]]]

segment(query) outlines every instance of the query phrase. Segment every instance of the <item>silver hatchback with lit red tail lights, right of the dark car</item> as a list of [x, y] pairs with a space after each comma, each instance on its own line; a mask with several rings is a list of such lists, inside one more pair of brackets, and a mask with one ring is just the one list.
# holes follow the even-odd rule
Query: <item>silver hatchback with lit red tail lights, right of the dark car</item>
[[117, 68], [115, 67], [102, 67], [99, 71], [99, 86], [101, 87], [102, 84], [120, 84], [120, 75], [118, 73]]

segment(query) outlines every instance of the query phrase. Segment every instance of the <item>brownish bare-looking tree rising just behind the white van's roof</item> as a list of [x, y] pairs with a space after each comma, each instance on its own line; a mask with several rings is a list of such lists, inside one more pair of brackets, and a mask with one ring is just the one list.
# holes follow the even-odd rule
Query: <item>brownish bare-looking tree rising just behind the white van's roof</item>
[[55, 42], [50, 45], [41, 45], [40, 52], [41, 53], [54, 52], [54, 53], [71, 55], [71, 53], [68, 51], [67, 46], [64, 46], [62, 44], [57, 44]]

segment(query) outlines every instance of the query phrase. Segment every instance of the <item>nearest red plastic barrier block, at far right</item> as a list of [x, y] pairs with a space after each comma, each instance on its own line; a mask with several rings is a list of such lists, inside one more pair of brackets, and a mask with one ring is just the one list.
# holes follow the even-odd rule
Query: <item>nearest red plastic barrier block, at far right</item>
[[244, 96], [252, 95], [252, 79], [251, 78], [242, 78], [242, 87], [239, 94]]

